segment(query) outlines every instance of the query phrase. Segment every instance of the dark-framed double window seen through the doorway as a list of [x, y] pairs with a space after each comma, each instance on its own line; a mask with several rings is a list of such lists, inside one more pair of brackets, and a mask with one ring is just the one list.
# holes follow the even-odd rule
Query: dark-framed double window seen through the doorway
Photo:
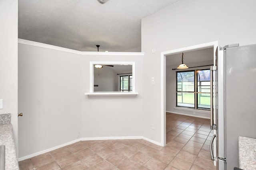
[[176, 106], [210, 109], [210, 69], [176, 72]]

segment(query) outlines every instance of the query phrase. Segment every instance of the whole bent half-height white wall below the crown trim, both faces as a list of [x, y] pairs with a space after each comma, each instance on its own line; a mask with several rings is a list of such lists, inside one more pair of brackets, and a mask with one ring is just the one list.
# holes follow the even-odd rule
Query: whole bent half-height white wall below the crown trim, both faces
[[[18, 48], [20, 158], [80, 138], [142, 136], [143, 56]], [[90, 61], [134, 61], [139, 95], [84, 95], [90, 91]]]

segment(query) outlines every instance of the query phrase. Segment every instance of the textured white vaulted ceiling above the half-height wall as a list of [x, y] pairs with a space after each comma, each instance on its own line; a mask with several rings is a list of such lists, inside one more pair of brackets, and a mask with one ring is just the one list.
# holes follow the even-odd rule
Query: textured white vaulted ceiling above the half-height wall
[[79, 51], [140, 52], [141, 19], [179, 0], [19, 0], [18, 37]]

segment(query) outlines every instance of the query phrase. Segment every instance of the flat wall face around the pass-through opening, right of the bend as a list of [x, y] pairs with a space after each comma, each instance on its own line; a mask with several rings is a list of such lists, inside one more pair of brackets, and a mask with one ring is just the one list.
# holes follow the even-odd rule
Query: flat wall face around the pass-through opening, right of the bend
[[[83, 96], [81, 137], [142, 136], [143, 129], [143, 56], [82, 57], [82, 92], [89, 92], [89, 62], [134, 61], [138, 96]], [[88, 66], [88, 67], [87, 67]]]

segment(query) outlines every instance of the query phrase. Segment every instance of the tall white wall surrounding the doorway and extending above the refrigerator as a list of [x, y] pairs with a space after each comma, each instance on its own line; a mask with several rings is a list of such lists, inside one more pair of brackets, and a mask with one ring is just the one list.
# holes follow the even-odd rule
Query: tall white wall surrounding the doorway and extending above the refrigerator
[[161, 140], [160, 53], [212, 41], [256, 43], [255, 6], [255, 0], [182, 0], [142, 19], [144, 90], [150, 92], [144, 94], [144, 137]]

